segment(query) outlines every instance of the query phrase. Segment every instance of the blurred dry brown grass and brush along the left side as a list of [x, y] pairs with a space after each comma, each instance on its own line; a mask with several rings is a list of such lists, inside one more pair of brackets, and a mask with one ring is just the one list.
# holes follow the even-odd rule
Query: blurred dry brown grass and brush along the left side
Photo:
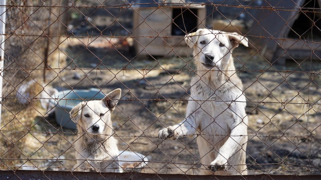
[[[56, 3], [56, 1], [51, 2]], [[53, 71], [44, 72], [35, 69], [44, 68], [45, 61], [48, 61], [48, 66], [52, 68], [58, 67], [59, 64], [57, 57], [60, 55], [56, 50], [59, 38], [34, 36], [43, 35], [43, 32], [47, 35], [57, 35], [57, 22], [50, 26], [51, 32], [47, 27], [55, 20], [52, 13], [58, 13], [59, 8], [52, 10], [51, 13], [45, 7], [39, 9], [32, 7], [38, 3], [18, 0], [14, 1], [15, 5], [30, 6], [8, 8], [6, 11], [6, 33], [13, 36], [7, 36], [5, 40], [6, 71], [3, 78], [4, 100], [0, 127], [2, 136], [0, 157], [5, 164], [1, 164], [2, 168], [8, 168], [7, 166], [15, 168], [22, 163], [19, 159], [28, 157], [29, 150], [25, 148], [25, 142], [29, 140], [30, 135], [28, 131], [34, 126], [34, 119], [41, 111], [39, 101], [33, 98], [39, 97], [46, 82], [55, 78], [56, 73]], [[8, 5], [13, 5], [13, 2], [9, 2]], [[5, 158], [13, 160], [3, 160]]]

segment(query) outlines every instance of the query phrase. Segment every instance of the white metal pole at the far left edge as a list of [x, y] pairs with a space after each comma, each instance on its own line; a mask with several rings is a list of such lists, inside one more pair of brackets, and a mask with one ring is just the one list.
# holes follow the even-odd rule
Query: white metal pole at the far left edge
[[2, 107], [2, 79], [4, 62], [4, 32], [5, 32], [6, 0], [0, 0], [0, 129], [1, 129], [1, 107]]

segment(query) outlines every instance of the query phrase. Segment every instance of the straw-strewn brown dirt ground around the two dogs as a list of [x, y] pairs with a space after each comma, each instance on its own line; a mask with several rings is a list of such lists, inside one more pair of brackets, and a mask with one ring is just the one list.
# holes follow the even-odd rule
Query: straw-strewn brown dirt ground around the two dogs
[[[109, 16], [93, 19], [98, 28], [106, 25], [99, 23], [110, 21], [113, 25], [109, 29], [122, 29]], [[77, 27], [76, 20], [70, 25]], [[130, 25], [125, 20], [125, 27]], [[79, 35], [87, 35], [83, 32], [88, 29], [93, 35], [97, 33], [95, 27], [84, 24]], [[110, 35], [107, 30], [104, 33]], [[68, 56], [62, 66], [65, 69], [57, 70], [50, 85], [58, 90], [101, 88], [104, 93], [121, 88], [122, 99], [112, 116], [119, 150], [146, 155], [150, 162], [141, 172], [197, 175], [201, 166], [194, 136], [163, 142], [157, 138], [160, 129], [185, 118], [184, 100], [189, 97], [190, 80], [195, 76], [191, 71], [195, 67], [192, 57], [134, 58], [126, 45], [116, 51], [103, 37], [88, 47], [79, 40], [91, 41], [84, 37], [69, 38], [61, 45]], [[285, 66], [271, 66], [255, 49], [245, 47], [237, 48], [234, 55], [248, 101], [249, 174], [320, 174], [321, 62], [306, 60], [299, 65], [287, 61]], [[45, 113], [41, 109], [39, 112]], [[25, 160], [22, 168], [72, 168], [76, 163], [72, 148], [76, 130], [61, 128], [54, 116], [42, 114], [34, 120], [22, 150], [31, 159]]]

